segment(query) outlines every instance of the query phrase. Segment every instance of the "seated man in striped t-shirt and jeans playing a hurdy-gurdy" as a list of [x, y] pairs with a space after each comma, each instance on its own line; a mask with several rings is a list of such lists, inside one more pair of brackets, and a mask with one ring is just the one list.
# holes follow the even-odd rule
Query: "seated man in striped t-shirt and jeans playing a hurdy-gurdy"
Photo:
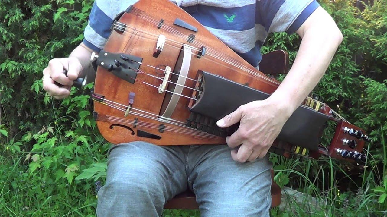
[[[69, 58], [52, 59], [43, 71], [43, 86], [51, 96], [69, 95], [73, 80], [85, 73], [91, 52], [103, 48], [112, 19], [135, 2], [96, 0], [82, 44]], [[164, 147], [132, 142], [113, 146], [107, 180], [98, 192], [97, 214], [159, 216], [164, 203], [188, 187], [202, 216], [269, 216], [267, 151], [324, 75], [342, 34], [315, 0], [180, 0], [176, 4], [253, 66], [258, 66], [260, 47], [270, 32], [296, 32], [302, 38], [300, 49], [271, 97], [242, 105], [217, 122], [228, 127], [240, 121], [238, 131], [227, 137], [227, 145]], [[62, 74], [63, 68], [68, 77]], [[54, 81], [65, 86], [59, 88]]]

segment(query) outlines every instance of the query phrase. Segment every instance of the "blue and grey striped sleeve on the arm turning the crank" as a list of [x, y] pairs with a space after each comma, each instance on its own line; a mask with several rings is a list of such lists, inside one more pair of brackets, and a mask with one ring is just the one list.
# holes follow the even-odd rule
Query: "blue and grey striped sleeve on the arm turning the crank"
[[84, 30], [83, 43], [93, 51], [101, 51], [110, 35], [112, 22], [113, 19], [106, 15], [95, 1], [90, 12], [89, 22]]

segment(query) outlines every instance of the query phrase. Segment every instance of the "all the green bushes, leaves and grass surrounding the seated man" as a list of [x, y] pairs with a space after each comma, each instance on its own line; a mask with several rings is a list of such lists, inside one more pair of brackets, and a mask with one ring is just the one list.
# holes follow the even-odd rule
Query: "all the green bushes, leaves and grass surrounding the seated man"
[[[92, 2], [0, 2], [0, 216], [95, 215], [109, 144], [89, 112], [89, 96], [72, 90], [72, 97], [53, 100], [41, 84], [48, 61], [68, 56], [82, 41]], [[292, 209], [272, 209], [272, 216], [387, 216], [387, 2], [319, 2], [344, 41], [315, 92], [373, 142], [365, 167], [273, 155], [275, 181], [319, 203], [293, 201]], [[299, 42], [295, 34], [272, 34], [263, 51], [287, 50], [292, 61]]]

